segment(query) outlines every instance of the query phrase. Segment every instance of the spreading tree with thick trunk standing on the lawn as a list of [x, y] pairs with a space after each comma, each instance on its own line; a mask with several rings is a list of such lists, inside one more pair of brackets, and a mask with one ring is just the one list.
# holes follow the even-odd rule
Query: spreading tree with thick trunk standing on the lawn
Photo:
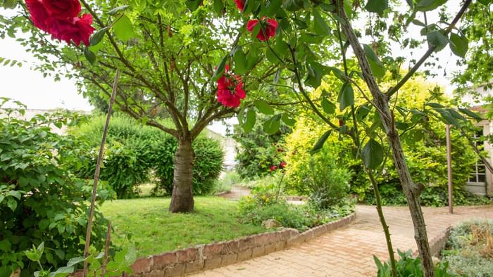
[[[87, 47], [74, 42], [58, 44], [32, 25], [25, 27], [29, 13], [22, 3], [17, 14], [1, 16], [0, 36], [15, 37], [18, 30], [29, 31], [18, 40], [39, 58], [36, 69], [55, 79], [77, 79], [82, 94], [93, 103], [109, 98], [112, 75], [119, 68], [117, 108], [175, 136], [178, 147], [170, 211], [193, 212], [192, 141], [210, 122], [230, 117], [237, 110], [217, 101], [216, 80], [226, 74], [232, 53], [246, 59], [241, 47], [235, 47], [235, 35], [241, 33], [237, 22], [217, 16], [222, 15], [223, 6], [204, 5], [190, 13], [179, 1], [130, 1], [119, 7], [126, 1], [118, 2], [81, 1], [99, 29]], [[223, 49], [231, 45], [235, 52], [223, 55]], [[235, 72], [247, 75], [254, 65], [261, 67], [258, 63], [261, 57], [249, 56], [249, 63]], [[220, 64], [218, 72], [216, 64]], [[272, 71], [275, 69], [265, 72], [272, 75]], [[254, 76], [261, 77], [252, 74], [245, 79]], [[170, 120], [163, 121], [163, 117]]]

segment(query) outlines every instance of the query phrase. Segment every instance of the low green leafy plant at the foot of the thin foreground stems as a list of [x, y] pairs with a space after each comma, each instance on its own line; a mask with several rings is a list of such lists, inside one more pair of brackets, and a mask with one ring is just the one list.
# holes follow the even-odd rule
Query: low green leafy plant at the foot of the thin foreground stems
[[[396, 264], [397, 276], [399, 277], [408, 277], [415, 276], [421, 277], [423, 276], [423, 267], [421, 266], [420, 258], [414, 258], [412, 255], [412, 250], [408, 250], [406, 252], [401, 252], [397, 250], [399, 254], [399, 260]], [[376, 256], [373, 256], [375, 264], [377, 265], [377, 277], [389, 277], [392, 276], [390, 265], [387, 262], [380, 262]], [[435, 265], [435, 277], [453, 277], [456, 276], [449, 271], [449, 263], [448, 262], [439, 262]]]

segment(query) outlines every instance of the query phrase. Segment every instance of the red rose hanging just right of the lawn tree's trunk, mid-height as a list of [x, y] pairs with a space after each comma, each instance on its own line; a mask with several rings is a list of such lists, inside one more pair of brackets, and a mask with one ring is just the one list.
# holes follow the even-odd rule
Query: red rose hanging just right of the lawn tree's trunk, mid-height
[[226, 65], [225, 73], [218, 79], [218, 101], [230, 108], [237, 108], [246, 94], [243, 90], [242, 78], [231, 75]]

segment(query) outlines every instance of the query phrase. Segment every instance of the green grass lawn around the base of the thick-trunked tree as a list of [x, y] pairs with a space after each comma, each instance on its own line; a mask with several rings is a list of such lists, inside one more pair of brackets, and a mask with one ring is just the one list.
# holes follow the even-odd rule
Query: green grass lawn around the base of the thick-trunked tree
[[111, 219], [111, 241], [118, 246], [131, 241], [137, 255], [159, 254], [192, 245], [231, 240], [266, 231], [237, 220], [237, 202], [218, 197], [195, 197], [194, 214], [170, 214], [170, 198], [137, 198], [107, 201], [101, 212]]

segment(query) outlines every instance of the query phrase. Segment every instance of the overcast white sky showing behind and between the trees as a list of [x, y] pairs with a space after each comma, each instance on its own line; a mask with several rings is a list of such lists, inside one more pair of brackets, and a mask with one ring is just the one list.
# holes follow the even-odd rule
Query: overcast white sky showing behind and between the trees
[[[460, 0], [448, 1], [446, 5], [447, 9], [454, 14], [460, 8]], [[6, 13], [11, 13], [11, 11], [0, 8], [0, 13], [5, 15]], [[437, 16], [429, 13], [428, 22], [436, 21]], [[419, 37], [418, 28], [413, 26], [411, 29]], [[368, 41], [363, 40], [363, 42]], [[412, 58], [417, 60], [424, 51], [424, 49], [415, 50]], [[409, 53], [404, 53], [398, 47], [395, 49], [395, 54], [411, 58]], [[36, 59], [32, 57], [31, 53], [25, 52], [23, 46], [18, 44], [14, 39], [9, 37], [3, 40], [0, 39], [0, 56], [2, 58], [23, 61], [23, 67], [18, 67], [17, 65], [14, 67], [4, 67], [0, 65], [0, 96], [23, 102], [30, 109], [67, 108], [70, 110], [92, 110], [89, 102], [77, 93], [77, 87], [73, 81], [62, 79], [60, 82], [54, 82], [50, 77], [44, 78], [42, 73], [32, 70], [30, 67], [36, 62]], [[445, 66], [444, 63], [447, 63], [447, 77], [443, 77], [443, 69], [436, 70], [435, 72], [438, 75], [432, 78], [431, 81], [445, 86], [447, 93], [451, 94], [454, 88], [450, 84], [449, 77], [451, 77], [451, 72], [458, 70], [456, 57], [451, 55], [448, 46], [439, 52], [438, 56], [442, 66]], [[232, 120], [232, 123], [234, 122], [235, 120]], [[211, 129], [220, 134], [225, 133], [225, 127], [219, 123], [213, 124]]]

